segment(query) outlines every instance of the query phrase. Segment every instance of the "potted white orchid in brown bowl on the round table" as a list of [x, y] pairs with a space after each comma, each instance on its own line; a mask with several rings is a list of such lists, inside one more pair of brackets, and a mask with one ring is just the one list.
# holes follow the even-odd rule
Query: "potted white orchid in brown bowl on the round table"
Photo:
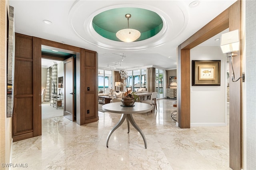
[[124, 106], [133, 106], [135, 101], [140, 101], [140, 98], [138, 97], [137, 93], [132, 92], [132, 93], [128, 93], [128, 86], [127, 86], [127, 82], [128, 82], [128, 73], [127, 71], [119, 71], [120, 76], [123, 80], [125, 80], [125, 83], [123, 85], [126, 86], [126, 95], [124, 97], [122, 97], [122, 104]]

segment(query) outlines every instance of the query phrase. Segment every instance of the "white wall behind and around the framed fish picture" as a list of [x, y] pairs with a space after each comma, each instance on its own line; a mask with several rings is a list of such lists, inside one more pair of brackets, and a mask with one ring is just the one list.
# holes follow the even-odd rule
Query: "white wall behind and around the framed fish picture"
[[[225, 126], [226, 55], [222, 53], [220, 47], [197, 46], [190, 50], [190, 59], [190, 65], [192, 60], [221, 60], [220, 86], [190, 84], [190, 126]], [[190, 79], [191, 77], [192, 75]]]

